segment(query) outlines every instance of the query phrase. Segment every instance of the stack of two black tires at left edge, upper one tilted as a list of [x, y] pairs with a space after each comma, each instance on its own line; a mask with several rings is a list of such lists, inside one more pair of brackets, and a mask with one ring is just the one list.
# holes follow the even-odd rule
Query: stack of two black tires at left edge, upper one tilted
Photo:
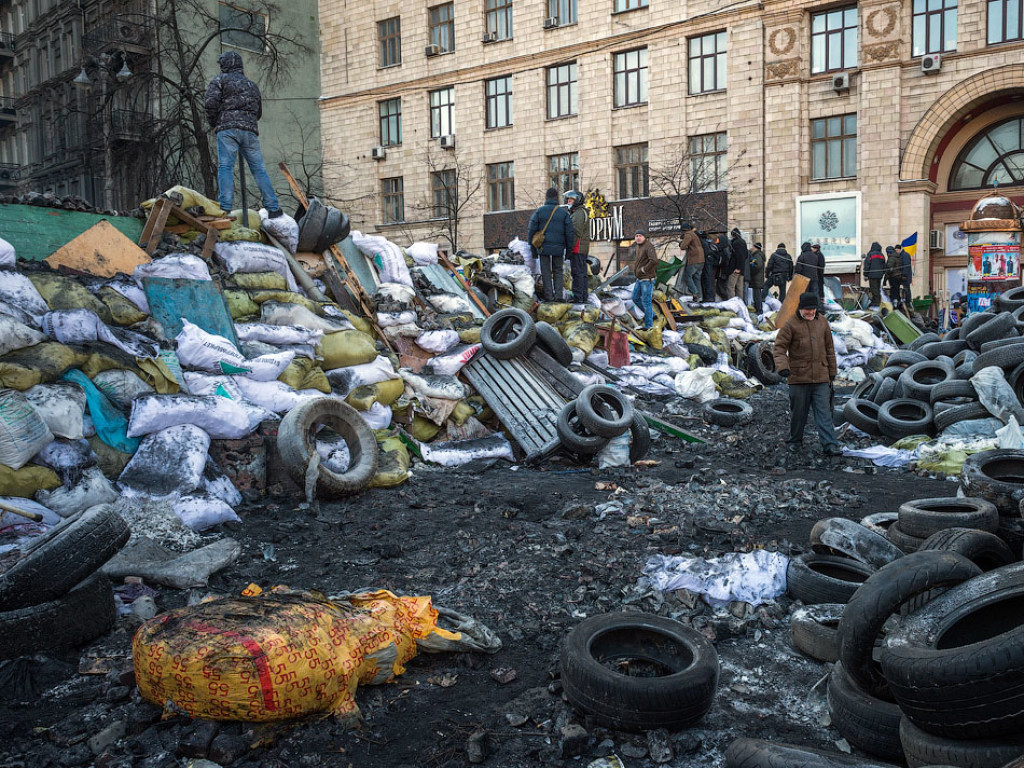
[[114, 591], [97, 571], [129, 536], [103, 504], [62, 520], [7, 563], [0, 570], [0, 659], [75, 647], [110, 631]]

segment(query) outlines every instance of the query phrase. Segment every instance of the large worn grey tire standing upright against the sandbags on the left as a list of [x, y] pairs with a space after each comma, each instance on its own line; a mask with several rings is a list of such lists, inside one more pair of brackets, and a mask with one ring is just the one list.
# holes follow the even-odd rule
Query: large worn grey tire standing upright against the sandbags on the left
[[315, 397], [293, 408], [278, 428], [278, 453], [285, 470], [300, 488], [306, 485], [306, 469], [316, 453], [316, 428], [333, 429], [348, 445], [349, 466], [334, 472], [323, 464], [316, 476], [316, 493], [339, 498], [362, 490], [377, 473], [377, 439], [359, 412], [337, 397]]

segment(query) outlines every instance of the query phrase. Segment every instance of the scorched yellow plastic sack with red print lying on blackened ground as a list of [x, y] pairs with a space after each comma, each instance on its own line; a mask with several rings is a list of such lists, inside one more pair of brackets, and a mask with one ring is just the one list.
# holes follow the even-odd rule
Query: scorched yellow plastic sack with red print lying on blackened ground
[[330, 713], [354, 722], [356, 687], [402, 674], [418, 645], [501, 647], [485, 627], [473, 637], [442, 629], [438, 618], [429, 597], [384, 590], [330, 600], [274, 588], [213, 599], [139, 628], [135, 682], [146, 700], [196, 718], [267, 722]]

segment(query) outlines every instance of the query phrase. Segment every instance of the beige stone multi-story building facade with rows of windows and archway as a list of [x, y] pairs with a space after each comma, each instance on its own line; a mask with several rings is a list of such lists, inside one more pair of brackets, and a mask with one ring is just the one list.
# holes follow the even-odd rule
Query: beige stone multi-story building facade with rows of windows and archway
[[1022, 18], [1022, 0], [321, 0], [327, 186], [399, 240], [436, 233], [458, 190], [469, 250], [524, 237], [549, 183], [599, 189], [607, 256], [635, 229], [671, 239], [676, 179], [698, 225], [819, 240], [834, 273], [916, 231], [915, 293], [943, 290], [979, 189], [1024, 197]]

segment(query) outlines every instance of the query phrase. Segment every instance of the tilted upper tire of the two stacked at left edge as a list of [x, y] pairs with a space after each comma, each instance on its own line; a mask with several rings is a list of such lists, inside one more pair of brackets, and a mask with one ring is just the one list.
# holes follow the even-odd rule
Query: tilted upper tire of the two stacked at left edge
[[0, 610], [27, 608], [66, 594], [116, 555], [131, 530], [109, 504], [62, 520], [0, 573]]

